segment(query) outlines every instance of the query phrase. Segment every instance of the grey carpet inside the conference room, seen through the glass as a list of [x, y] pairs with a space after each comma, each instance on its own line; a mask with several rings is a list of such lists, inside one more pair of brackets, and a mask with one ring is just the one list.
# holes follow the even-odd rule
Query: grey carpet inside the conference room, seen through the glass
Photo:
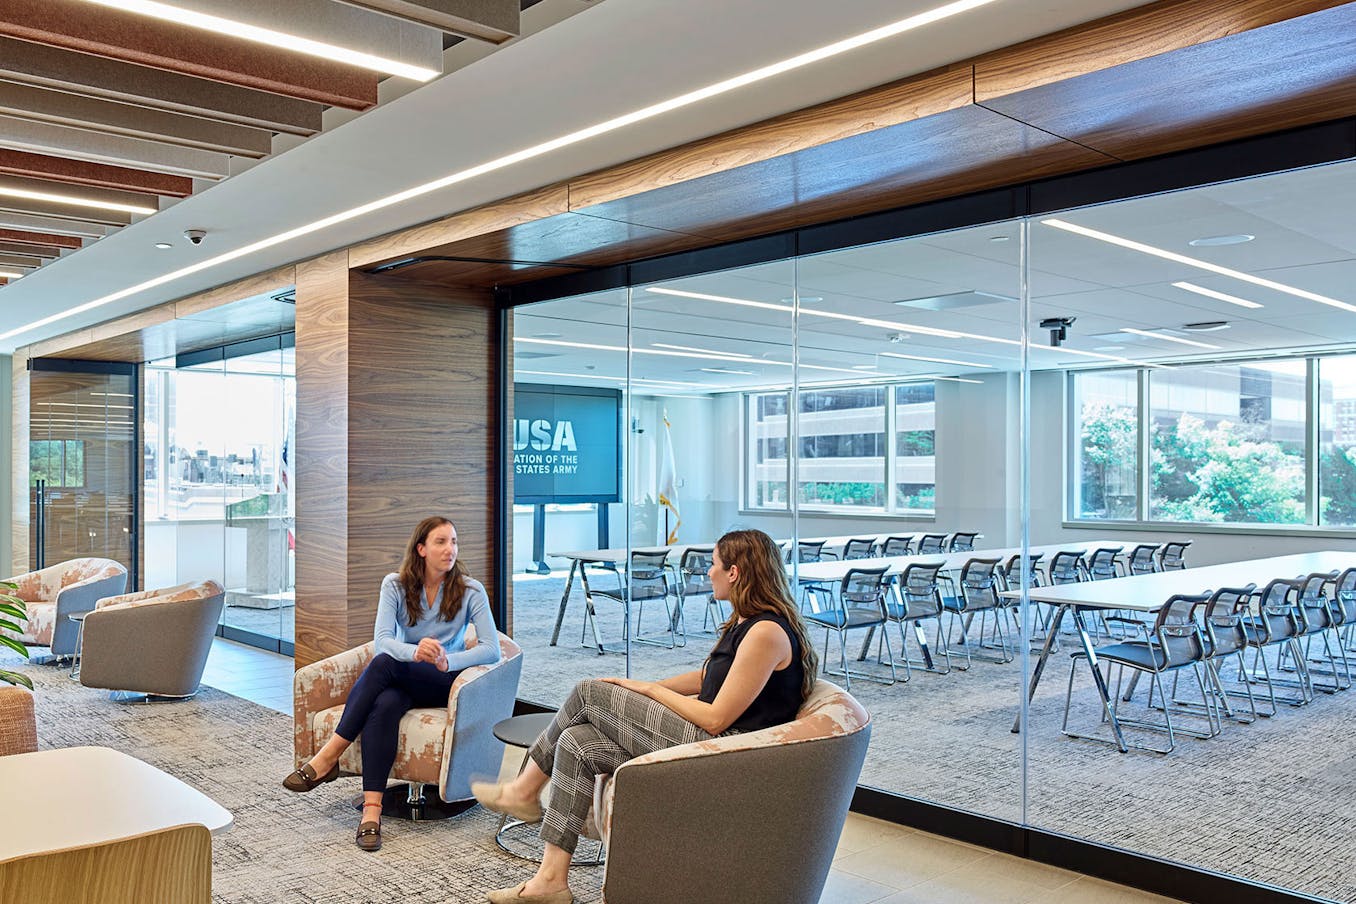
[[[597, 581], [616, 581], [599, 575]], [[560, 645], [549, 646], [564, 579], [514, 581], [514, 632], [525, 649], [521, 695], [559, 703], [584, 676], [620, 674], [620, 655], [579, 645], [583, 623], [578, 583]], [[690, 628], [702, 603], [687, 602]], [[650, 619], [654, 618], [651, 622]], [[645, 611], [643, 630], [663, 623]], [[620, 640], [618, 606], [599, 611], [603, 640]], [[814, 632], [822, 651], [823, 632]], [[856, 634], [860, 638], [860, 633]], [[892, 628], [898, 656], [899, 634]], [[632, 646], [636, 678], [698, 668], [713, 638], [690, 634], [679, 649]], [[860, 640], [857, 641], [860, 644]], [[1323, 899], [1356, 901], [1356, 690], [1318, 694], [1304, 707], [1281, 707], [1252, 725], [1224, 724], [1211, 740], [1178, 736], [1168, 755], [1064, 737], [1064, 687], [1070, 638], [1050, 660], [1032, 703], [1028, 740], [1028, 821], [1064, 835], [1153, 854]], [[837, 637], [831, 659], [837, 665]], [[852, 648], [850, 648], [852, 649]], [[917, 648], [910, 646], [917, 656]], [[1356, 659], [1356, 657], [1353, 657]], [[1035, 660], [1035, 653], [1032, 655]], [[842, 679], [834, 679], [841, 683]], [[1021, 661], [976, 661], [970, 671], [936, 675], [914, 670], [894, 686], [854, 680], [853, 694], [873, 717], [861, 783], [949, 806], [1021, 821], [1022, 736], [1012, 733], [1022, 693]], [[1144, 684], [1147, 687], [1147, 682]], [[1127, 716], [1146, 717], [1144, 693]], [[1097, 728], [1098, 699], [1086, 664], [1074, 686], [1071, 726]], [[1155, 720], [1161, 718], [1154, 713]], [[1163, 744], [1161, 735], [1131, 740]]]

